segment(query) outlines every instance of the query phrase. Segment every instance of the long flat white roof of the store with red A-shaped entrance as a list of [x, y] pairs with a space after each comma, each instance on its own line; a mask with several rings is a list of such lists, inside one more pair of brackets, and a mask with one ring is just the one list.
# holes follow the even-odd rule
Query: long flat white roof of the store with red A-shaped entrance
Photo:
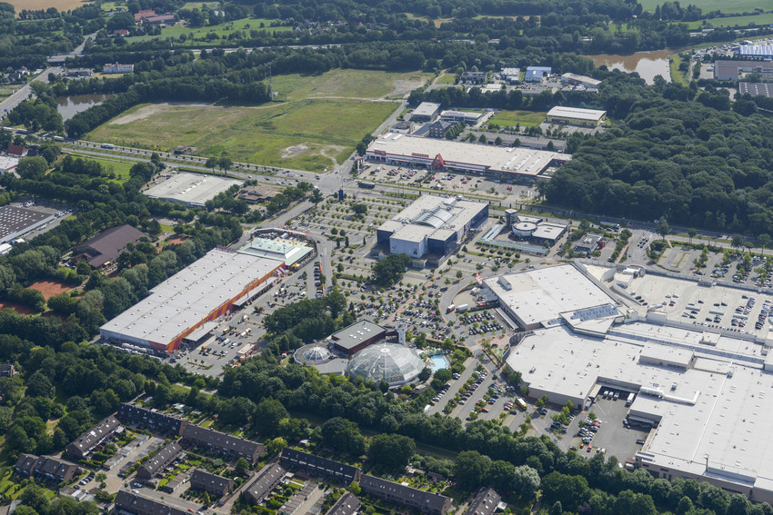
[[419, 158], [428, 162], [440, 154], [451, 166], [477, 166], [493, 172], [530, 176], [542, 173], [557, 155], [567, 155], [523, 147], [467, 144], [395, 133], [379, 136], [368, 147], [368, 153], [385, 155], [387, 159], [394, 156], [397, 159]]

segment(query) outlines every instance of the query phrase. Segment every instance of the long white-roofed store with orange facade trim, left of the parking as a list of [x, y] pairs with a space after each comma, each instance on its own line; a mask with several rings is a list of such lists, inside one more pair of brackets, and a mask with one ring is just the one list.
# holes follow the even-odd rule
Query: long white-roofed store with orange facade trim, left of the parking
[[[185, 339], [199, 341], [234, 303], [267, 286], [283, 269], [273, 259], [214, 249], [158, 284], [150, 294], [99, 328], [102, 339], [165, 355]], [[270, 284], [270, 282], [268, 282]]]

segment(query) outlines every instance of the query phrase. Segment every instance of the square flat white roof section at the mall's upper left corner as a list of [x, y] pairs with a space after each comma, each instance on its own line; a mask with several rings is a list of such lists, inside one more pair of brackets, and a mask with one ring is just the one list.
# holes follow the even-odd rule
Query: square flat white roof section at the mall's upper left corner
[[527, 325], [556, 320], [562, 312], [617, 304], [572, 264], [507, 273], [484, 284]]

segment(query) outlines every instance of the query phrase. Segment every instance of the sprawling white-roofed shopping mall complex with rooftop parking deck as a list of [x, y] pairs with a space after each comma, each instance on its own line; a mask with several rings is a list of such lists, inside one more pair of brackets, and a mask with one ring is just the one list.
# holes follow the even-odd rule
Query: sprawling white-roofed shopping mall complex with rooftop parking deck
[[[627, 420], [652, 428], [637, 467], [773, 501], [773, 338], [767, 317], [757, 329], [736, 323], [745, 312], [768, 312], [773, 298], [699, 277], [629, 272], [575, 264], [508, 274], [501, 298], [530, 323], [512, 340], [507, 366], [523, 374], [530, 397], [557, 405], [587, 407], [607, 387], [634, 393]], [[486, 284], [496, 290], [497, 282]]]

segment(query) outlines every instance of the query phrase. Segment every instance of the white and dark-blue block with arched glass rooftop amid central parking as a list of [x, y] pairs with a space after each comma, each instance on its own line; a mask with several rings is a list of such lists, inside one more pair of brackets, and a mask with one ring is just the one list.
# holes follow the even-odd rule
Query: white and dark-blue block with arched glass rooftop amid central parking
[[382, 223], [376, 239], [378, 244], [388, 245], [390, 253], [405, 253], [415, 260], [429, 255], [437, 261], [452, 253], [487, 219], [487, 203], [422, 195]]

